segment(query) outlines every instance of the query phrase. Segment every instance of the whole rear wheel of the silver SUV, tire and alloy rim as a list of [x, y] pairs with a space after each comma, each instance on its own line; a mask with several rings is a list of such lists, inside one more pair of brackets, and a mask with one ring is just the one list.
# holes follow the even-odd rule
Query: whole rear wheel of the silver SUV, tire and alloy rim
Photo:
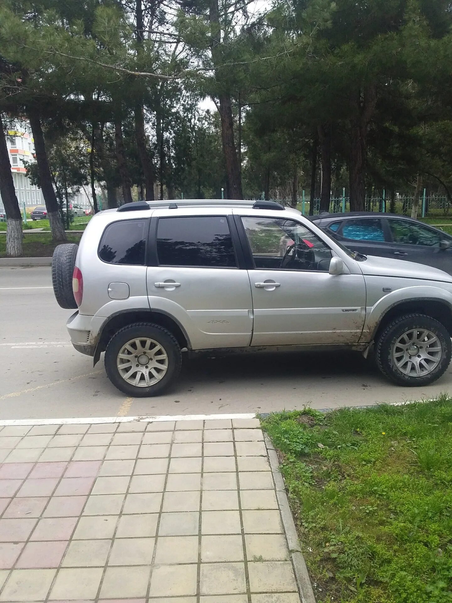
[[134, 323], [113, 335], [104, 362], [108, 379], [127, 396], [157, 396], [177, 379], [181, 350], [163, 327]]

